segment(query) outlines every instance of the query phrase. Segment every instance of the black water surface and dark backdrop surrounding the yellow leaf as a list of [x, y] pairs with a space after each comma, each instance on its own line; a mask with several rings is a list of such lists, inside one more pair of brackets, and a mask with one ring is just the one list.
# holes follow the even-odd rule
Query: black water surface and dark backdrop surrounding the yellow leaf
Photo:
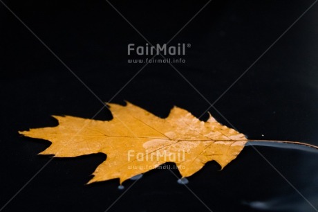
[[[169, 64], [148, 64], [120, 91], [143, 66], [127, 63], [142, 58], [127, 55], [127, 45], [146, 42], [106, 1], [3, 2], [100, 100], [129, 100], [160, 117], [174, 105], [195, 116], [209, 107]], [[164, 44], [207, 1], [112, 3], [149, 42]], [[214, 103], [312, 3], [213, 0], [172, 40], [171, 45], [191, 44], [186, 63], [174, 66]], [[213, 116], [230, 125], [226, 118], [249, 139], [318, 145], [317, 20], [315, 5], [217, 101], [224, 117], [209, 109]], [[50, 160], [37, 155], [50, 142], [19, 136], [18, 130], [57, 125], [52, 114], [92, 118], [102, 108], [44, 44], [0, 3], [0, 207]], [[95, 118], [109, 120], [111, 113], [104, 108]], [[317, 154], [257, 149], [317, 208]], [[124, 182], [123, 191], [118, 180], [86, 186], [105, 159], [104, 154], [53, 159], [3, 212], [109, 209], [133, 182]], [[187, 184], [212, 211], [317, 211], [251, 147], [219, 169], [209, 162]], [[151, 170], [109, 211], [208, 211], [193, 193], [169, 170]]]

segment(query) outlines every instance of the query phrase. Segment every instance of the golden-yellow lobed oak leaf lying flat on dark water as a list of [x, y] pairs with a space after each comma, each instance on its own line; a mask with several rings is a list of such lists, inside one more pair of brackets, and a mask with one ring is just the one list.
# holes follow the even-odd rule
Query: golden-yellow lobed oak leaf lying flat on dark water
[[106, 161], [88, 183], [119, 178], [122, 184], [167, 162], [176, 163], [182, 177], [193, 175], [208, 161], [214, 160], [224, 168], [248, 141], [244, 134], [221, 125], [211, 114], [204, 122], [179, 107], [171, 109], [167, 118], [159, 118], [131, 103], [109, 106], [111, 121], [53, 116], [59, 121], [57, 127], [19, 133], [52, 142], [39, 154], [106, 154]]

